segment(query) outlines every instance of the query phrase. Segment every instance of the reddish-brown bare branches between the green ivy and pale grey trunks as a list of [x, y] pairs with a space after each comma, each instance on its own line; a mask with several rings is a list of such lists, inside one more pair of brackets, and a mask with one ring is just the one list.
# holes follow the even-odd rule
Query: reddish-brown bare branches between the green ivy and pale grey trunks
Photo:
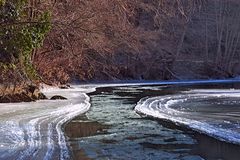
[[[50, 81], [70, 78], [167, 78], [180, 36], [176, 25], [205, 0], [62, 0], [53, 10], [53, 28], [35, 64]], [[173, 21], [171, 21], [173, 19]], [[176, 21], [174, 21], [176, 20]], [[182, 22], [183, 21], [183, 22]], [[171, 45], [166, 45], [171, 40]], [[136, 72], [136, 73], [134, 73]], [[137, 73], [138, 72], [138, 73]], [[142, 73], [141, 73], [142, 72]]]

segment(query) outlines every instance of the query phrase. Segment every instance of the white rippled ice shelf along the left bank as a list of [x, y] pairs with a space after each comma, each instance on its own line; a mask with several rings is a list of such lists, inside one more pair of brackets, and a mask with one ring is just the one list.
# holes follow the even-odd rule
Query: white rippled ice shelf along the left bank
[[94, 88], [45, 89], [68, 100], [0, 104], [0, 159], [70, 159], [62, 125], [89, 110]]

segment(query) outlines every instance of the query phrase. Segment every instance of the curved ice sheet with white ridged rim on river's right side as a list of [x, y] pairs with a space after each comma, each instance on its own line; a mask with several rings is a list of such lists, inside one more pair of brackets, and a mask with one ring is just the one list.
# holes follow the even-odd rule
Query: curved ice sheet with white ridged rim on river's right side
[[191, 90], [143, 98], [135, 111], [240, 144], [240, 90]]

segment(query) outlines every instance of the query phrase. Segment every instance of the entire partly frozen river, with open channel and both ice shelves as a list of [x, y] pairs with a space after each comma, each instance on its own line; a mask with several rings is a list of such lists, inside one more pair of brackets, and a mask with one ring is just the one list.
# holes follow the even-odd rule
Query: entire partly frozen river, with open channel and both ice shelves
[[79, 85], [43, 90], [68, 100], [0, 104], [0, 159], [238, 159], [239, 83], [221, 82]]

